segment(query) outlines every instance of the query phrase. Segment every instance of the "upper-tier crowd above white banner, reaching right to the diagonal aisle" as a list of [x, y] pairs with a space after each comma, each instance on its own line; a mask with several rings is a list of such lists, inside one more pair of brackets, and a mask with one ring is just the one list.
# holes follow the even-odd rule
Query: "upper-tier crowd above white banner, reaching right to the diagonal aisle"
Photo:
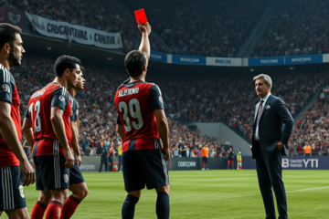
[[[159, 5], [156, 1], [146, 0], [142, 7], [145, 8], [154, 33], [164, 42], [154, 37], [153, 50], [192, 56], [236, 57], [239, 47], [269, 2], [211, 0], [191, 3], [183, 0], [177, 4], [175, 0], [168, 0]], [[120, 32], [122, 36], [130, 38], [139, 36], [133, 17], [133, 11], [141, 7], [138, 1], [12, 0], [11, 4], [37, 16]]]

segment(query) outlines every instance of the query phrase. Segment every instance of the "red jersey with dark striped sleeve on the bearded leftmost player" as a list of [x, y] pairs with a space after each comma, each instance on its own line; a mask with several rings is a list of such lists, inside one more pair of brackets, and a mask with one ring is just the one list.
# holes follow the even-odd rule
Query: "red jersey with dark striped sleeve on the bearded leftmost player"
[[[19, 112], [19, 96], [13, 75], [0, 64], [0, 101], [11, 104], [11, 118], [14, 120], [19, 141], [22, 141], [21, 118]], [[19, 166], [16, 155], [5, 143], [0, 133], [0, 167]]]

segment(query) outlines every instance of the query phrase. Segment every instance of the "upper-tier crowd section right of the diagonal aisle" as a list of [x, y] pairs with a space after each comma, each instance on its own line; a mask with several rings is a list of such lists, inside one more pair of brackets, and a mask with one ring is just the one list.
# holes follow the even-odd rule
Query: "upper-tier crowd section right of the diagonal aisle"
[[251, 57], [328, 53], [328, 6], [317, 0], [281, 1]]

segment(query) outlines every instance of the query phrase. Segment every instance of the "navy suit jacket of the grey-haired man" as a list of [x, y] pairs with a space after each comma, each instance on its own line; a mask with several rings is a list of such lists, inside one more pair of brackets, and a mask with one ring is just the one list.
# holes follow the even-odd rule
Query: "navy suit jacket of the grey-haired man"
[[265, 158], [278, 151], [276, 144], [281, 141], [282, 155], [287, 155], [287, 144], [292, 135], [293, 119], [284, 101], [270, 95], [260, 114], [260, 142], [255, 141], [257, 114], [260, 102], [256, 105], [252, 132], [252, 159]]

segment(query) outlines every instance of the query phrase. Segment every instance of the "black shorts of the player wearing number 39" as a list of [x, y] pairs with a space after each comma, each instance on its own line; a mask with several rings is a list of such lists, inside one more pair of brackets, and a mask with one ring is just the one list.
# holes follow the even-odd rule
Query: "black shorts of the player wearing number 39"
[[164, 154], [159, 149], [122, 153], [124, 187], [127, 192], [154, 189], [169, 184]]

